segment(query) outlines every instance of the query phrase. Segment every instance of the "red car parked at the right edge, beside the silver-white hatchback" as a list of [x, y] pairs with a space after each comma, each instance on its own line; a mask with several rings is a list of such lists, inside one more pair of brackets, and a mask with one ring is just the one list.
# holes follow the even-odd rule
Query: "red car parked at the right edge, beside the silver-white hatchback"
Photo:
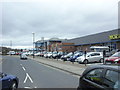
[[110, 56], [108, 59], [105, 61], [106, 63], [118, 63], [120, 64], [120, 52], [116, 52], [112, 56]]

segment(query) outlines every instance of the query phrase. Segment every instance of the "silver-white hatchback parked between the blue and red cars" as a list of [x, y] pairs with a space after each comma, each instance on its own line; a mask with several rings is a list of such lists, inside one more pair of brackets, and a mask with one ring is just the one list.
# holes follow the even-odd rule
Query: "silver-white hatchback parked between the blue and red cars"
[[75, 61], [78, 63], [89, 63], [89, 62], [103, 62], [102, 52], [89, 52], [86, 55], [78, 57]]

